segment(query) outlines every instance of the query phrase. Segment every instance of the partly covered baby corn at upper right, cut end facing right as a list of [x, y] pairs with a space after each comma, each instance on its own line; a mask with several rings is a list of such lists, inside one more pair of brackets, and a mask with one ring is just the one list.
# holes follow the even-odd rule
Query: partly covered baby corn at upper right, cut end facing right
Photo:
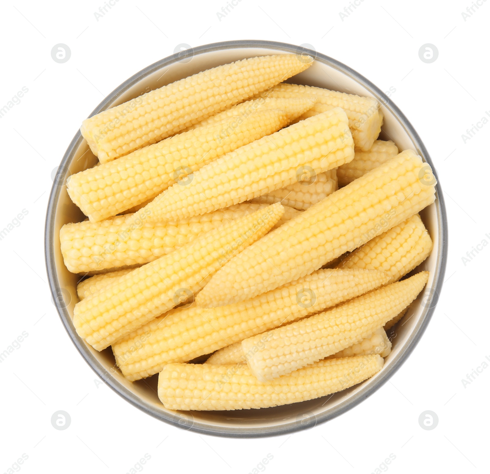
[[299, 117], [299, 120], [323, 113], [334, 107], [341, 107], [349, 119], [354, 145], [361, 150], [369, 150], [381, 132], [383, 113], [379, 110], [378, 101], [372, 97], [296, 84], [278, 84], [272, 90], [257, 95], [265, 94], [268, 97], [308, 97], [315, 100], [316, 104]]

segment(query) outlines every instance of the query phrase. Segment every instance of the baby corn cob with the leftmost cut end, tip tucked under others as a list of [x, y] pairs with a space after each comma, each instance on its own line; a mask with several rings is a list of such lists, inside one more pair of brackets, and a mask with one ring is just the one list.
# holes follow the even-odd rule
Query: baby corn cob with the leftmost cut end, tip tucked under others
[[[179, 222], [147, 222], [147, 211], [140, 211], [102, 222], [65, 224], [60, 230], [61, 252], [73, 273], [141, 265], [182, 247], [203, 232], [265, 207], [267, 204], [237, 204]], [[277, 224], [297, 214], [299, 211], [288, 207], [287, 215]]]

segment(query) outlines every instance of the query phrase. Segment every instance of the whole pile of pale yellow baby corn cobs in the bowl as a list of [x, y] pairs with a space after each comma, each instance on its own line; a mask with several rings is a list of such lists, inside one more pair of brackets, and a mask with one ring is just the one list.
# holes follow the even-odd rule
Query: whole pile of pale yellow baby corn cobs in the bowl
[[67, 182], [88, 216], [60, 231], [66, 267], [90, 276], [73, 323], [128, 380], [159, 373], [166, 408], [359, 384], [427, 282], [402, 277], [432, 250], [417, 214], [432, 170], [377, 139], [375, 99], [284, 82], [312, 61], [237, 61], [83, 122], [99, 163]]

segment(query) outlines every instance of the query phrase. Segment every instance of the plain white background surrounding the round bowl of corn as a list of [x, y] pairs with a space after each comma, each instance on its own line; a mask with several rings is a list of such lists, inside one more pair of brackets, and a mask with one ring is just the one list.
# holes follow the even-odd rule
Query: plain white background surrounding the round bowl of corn
[[[481, 1], [481, 0], [480, 0]], [[462, 134], [490, 110], [490, 1], [464, 20], [470, 0], [349, 2], [241, 0], [218, 19], [225, 0], [119, 0], [96, 20], [103, 0], [2, 3], [0, 108], [28, 92], [0, 119], [1, 220], [22, 209], [21, 225], [0, 241], [0, 352], [28, 337], [0, 364], [0, 472], [23, 453], [21, 471], [126, 473], [146, 453], [144, 472], [249, 473], [268, 453], [266, 471], [372, 473], [391, 453], [392, 473], [487, 472], [490, 367], [463, 385], [490, 357], [490, 246], [464, 265], [483, 239], [488, 219], [486, 124]], [[130, 406], [81, 358], [51, 303], [43, 231], [51, 172], [83, 118], [129, 76], [173, 54], [176, 45], [264, 39], [300, 45], [354, 68], [392, 100], [425, 142], [439, 174], [449, 219], [449, 260], [439, 305], [401, 369], [361, 405], [302, 432], [263, 439], [227, 439], [182, 431]], [[51, 59], [64, 43], [72, 56]], [[432, 64], [418, 57], [437, 46]], [[65, 410], [69, 429], [51, 415]], [[436, 429], [418, 425], [424, 410]], [[382, 466], [382, 469], [385, 467]]]

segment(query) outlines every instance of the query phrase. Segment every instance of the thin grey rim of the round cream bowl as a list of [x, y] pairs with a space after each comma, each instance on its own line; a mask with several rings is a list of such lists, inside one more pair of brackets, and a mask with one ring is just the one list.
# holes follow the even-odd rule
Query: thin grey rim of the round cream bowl
[[[405, 130], [407, 135], [412, 139], [413, 143], [416, 145], [417, 152], [423, 158], [424, 161], [429, 163], [429, 165], [434, 170], [434, 174], [437, 177], [436, 170], [434, 169], [434, 165], [432, 160], [422, 143], [420, 137], [415, 131], [412, 124], [405, 117], [405, 115], [398, 109], [398, 107], [392, 102], [392, 100], [377, 88], [374, 84], [372, 84], [368, 79], [364, 76], [356, 72], [354, 69], [345, 66], [343, 63], [330, 58], [324, 54], [321, 54], [317, 51], [302, 47], [291, 45], [287, 43], [279, 43], [274, 41], [262, 41], [262, 40], [237, 40], [237, 41], [224, 41], [218, 43], [211, 43], [208, 45], [197, 46], [195, 48], [191, 48], [186, 51], [181, 51], [179, 53], [175, 53], [171, 56], [168, 56], [160, 61], [157, 61], [147, 68], [142, 69], [137, 72], [129, 79], [124, 81], [120, 86], [118, 86], [115, 90], [113, 90], [110, 94], [107, 95], [94, 109], [94, 111], [90, 114], [90, 116], [95, 115], [105, 109], [108, 108], [108, 105], [113, 103], [115, 99], [117, 99], [123, 92], [128, 90], [130, 87], [134, 86], [141, 79], [148, 76], [152, 72], [165, 67], [171, 64], [174, 64], [179, 61], [182, 57], [186, 57], [187, 54], [202, 54], [208, 53], [212, 51], [218, 50], [226, 50], [226, 49], [241, 49], [241, 48], [269, 48], [284, 51], [285, 53], [295, 53], [295, 54], [310, 54], [312, 55], [316, 61], [323, 63], [327, 66], [330, 66], [334, 69], [337, 69], [340, 72], [343, 72], [351, 79], [355, 80], [360, 85], [364, 86], [369, 92], [379, 101], [381, 102], [397, 119], [398, 123]], [[83, 138], [78, 130], [73, 137], [70, 145], [68, 146], [63, 159], [58, 167], [58, 172], [61, 175], [62, 182], [65, 181], [66, 175], [69, 169], [69, 166], [72, 162], [74, 153], [82, 142]], [[78, 352], [82, 355], [85, 361], [90, 365], [90, 367], [94, 370], [94, 372], [108, 385], [110, 386], [118, 395], [123, 397], [126, 401], [131, 403], [133, 406], [136, 406], [140, 410], [145, 413], [157, 418], [161, 421], [169, 423], [173, 426], [176, 426], [181, 429], [189, 429], [201, 434], [208, 434], [214, 436], [224, 436], [224, 437], [235, 437], [235, 438], [251, 438], [251, 437], [265, 437], [265, 436], [280, 436], [284, 434], [288, 434], [294, 431], [298, 431], [301, 429], [311, 428], [319, 423], [324, 423], [328, 420], [331, 420], [345, 411], [353, 408], [354, 406], [361, 403], [363, 400], [372, 395], [379, 387], [385, 384], [393, 374], [400, 368], [404, 361], [411, 354], [418, 341], [422, 337], [427, 325], [434, 313], [434, 309], [437, 304], [437, 300], [439, 294], [441, 293], [441, 287], [443, 283], [443, 277], [446, 267], [447, 261], [447, 215], [444, 205], [444, 200], [442, 196], [441, 184], [438, 180], [436, 184], [436, 214], [437, 214], [437, 226], [438, 226], [438, 235], [439, 235], [439, 245], [438, 245], [438, 254], [436, 258], [436, 268], [434, 275], [434, 282], [432, 286], [433, 292], [429, 295], [429, 299], [427, 301], [426, 307], [420, 316], [420, 320], [418, 323], [418, 327], [415, 328], [413, 333], [409, 336], [405, 346], [402, 350], [391, 361], [390, 367], [386, 369], [383, 373], [383, 377], [380, 377], [375, 383], [369, 384], [368, 386], [362, 388], [351, 397], [348, 397], [344, 402], [339, 405], [328, 409], [319, 415], [315, 415], [314, 423], [297, 423], [291, 422], [288, 424], [280, 425], [280, 426], [270, 426], [263, 428], [229, 428], [222, 426], [212, 426], [206, 425], [202, 423], [195, 423], [192, 421], [191, 423], [187, 418], [178, 416], [178, 414], [170, 414], [162, 411], [158, 411], [141, 400], [136, 394], [132, 393], [122, 384], [120, 384], [115, 378], [111, 376], [109, 371], [107, 371], [100, 362], [95, 358], [95, 356], [90, 352], [90, 350], [85, 346], [82, 340], [76, 334], [76, 331], [73, 326], [73, 322], [71, 320], [70, 315], [66, 308], [60, 303], [57, 299], [56, 295], [59, 294], [60, 284], [57, 277], [56, 272], [56, 264], [54, 259], [54, 225], [55, 225], [55, 211], [58, 203], [58, 199], [61, 193], [62, 186], [58, 186], [57, 182], [53, 183], [51, 188], [51, 192], [49, 195], [48, 208], [46, 213], [46, 225], [45, 225], [45, 259], [46, 259], [46, 270], [49, 281], [49, 288], [51, 290], [52, 300], [55, 303], [58, 314], [61, 318], [61, 321], [72, 339], [73, 344], [78, 349]]]

